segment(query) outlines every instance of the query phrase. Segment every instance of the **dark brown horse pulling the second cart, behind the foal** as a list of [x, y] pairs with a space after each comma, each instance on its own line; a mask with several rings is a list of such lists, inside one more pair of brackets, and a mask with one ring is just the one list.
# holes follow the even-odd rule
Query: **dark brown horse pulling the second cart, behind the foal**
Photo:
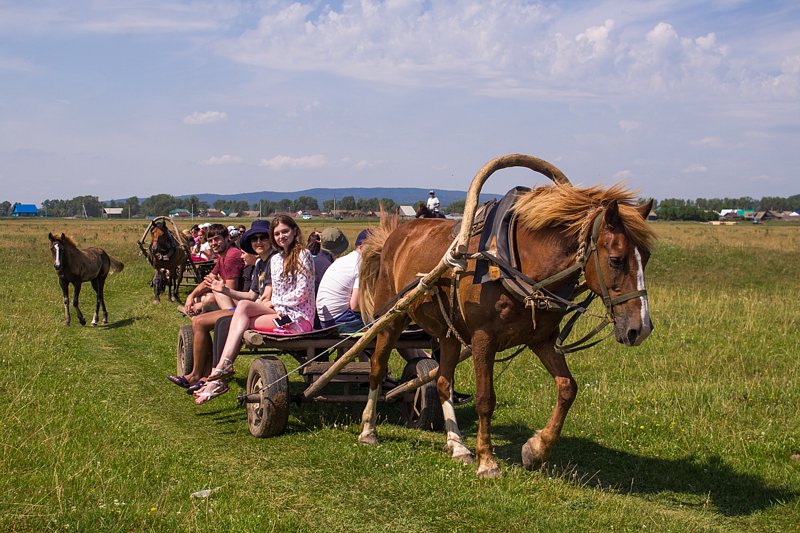
[[164, 219], [156, 220], [150, 226], [150, 263], [153, 274], [153, 303], [161, 301], [160, 296], [167, 290], [171, 302], [178, 300], [178, 290], [183, 281], [188, 254], [182, 235], [175, 235], [167, 228]]

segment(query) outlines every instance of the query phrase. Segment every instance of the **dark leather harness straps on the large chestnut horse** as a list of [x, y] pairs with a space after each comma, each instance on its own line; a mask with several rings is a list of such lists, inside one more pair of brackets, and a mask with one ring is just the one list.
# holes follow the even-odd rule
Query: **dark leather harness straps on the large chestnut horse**
[[[567, 354], [590, 348], [608, 336], [606, 335], [600, 339], [591, 341], [591, 339], [598, 335], [606, 326], [614, 322], [614, 306], [634, 298], [646, 296], [647, 290], [640, 289], [611, 298], [608, 287], [603, 279], [602, 269], [600, 268], [600, 254], [597, 249], [597, 240], [600, 235], [600, 227], [605, 214], [605, 210], [602, 208], [598, 208], [597, 214], [594, 215], [591, 224], [591, 231], [587, 233], [586, 239], [578, 247], [575, 264], [541, 281], [531, 279], [520, 272], [514, 238], [517, 217], [513, 206], [519, 196], [527, 190], [522, 187], [517, 187], [509, 191], [500, 202], [490, 201], [481, 206], [478, 213], [476, 213], [476, 222], [473, 224], [471, 233], [473, 236], [478, 233], [481, 234], [479, 249], [478, 252], [465, 256], [464, 259], [477, 260], [474, 274], [475, 283], [485, 283], [487, 281], [499, 279], [503, 286], [517, 300], [523, 302], [526, 308], [530, 308], [531, 320], [534, 328], [536, 328], [537, 310], [563, 310], [566, 314], [572, 313], [572, 316], [567, 320], [556, 340], [555, 349], [557, 352]], [[458, 225], [453, 229], [453, 232], [457, 234]], [[493, 246], [487, 248], [487, 243], [492, 243]], [[597, 297], [593, 292], [589, 292], [588, 296], [580, 302], [575, 302], [572, 299], [573, 296], [586, 291], [588, 288], [586, 286], [584, 274], [586, 265], [589, 263], [592, 256], [594, 256], [595, 270], [598, 273], [597, 277], [600, 284], [601, 299], [606, 311], [605, 316], [600, 317], [600, 323], [592, 331], [577, 341], [565, 344], [577, 320], [588, 312], [589, 305]], [[465, 272], [461, 265], [453, 266], [456, 270], [456, 275], [451, 277], [449, 313], [445, 311], [441, 291], [438, 291], [437, 287], [425, 287], [425, 292], [431, 295], [432, 298], [434, 296], [436, 297], [435, 299], [438, 302], [439, 310], [447, 322], [448, 331], [446, 336], [450, 337], [452, 334], [461, 344], [467, 345], [455, 328], [453, 320], [456, 308], [455, 302], [458, 302], [459, 312], [462, 317], [464, 316], [463, 309], [461, 308], [461, 301], [456, 297], [456, 291], [458, 287], [458, 278], [460, 275], [464, 275]], [[576, 282], [573, 284], [567, 284], [555, 292], [547, 288], [548, 285], [573, 276], [576, 278]], [[409, 288], [400, 291], [398, 297], [407, 292], [407, 290], [410, 290], [411, 287], [416, 286], [417, 283], [421, 283], [421, 281], [422, 280], [419, 280], [419, 282], [412, 282]]]

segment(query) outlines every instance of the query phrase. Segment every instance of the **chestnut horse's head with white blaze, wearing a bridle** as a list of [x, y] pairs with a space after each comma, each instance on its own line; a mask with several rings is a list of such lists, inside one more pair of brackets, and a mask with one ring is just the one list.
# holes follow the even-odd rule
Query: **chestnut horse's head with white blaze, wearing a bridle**
[[614, 337], [627, 346], [653, 331], [644, 282], [650, 233], [643, 225], [652, 207], [652, 200], [638, 208], [609, 203], [593, 222], [587, 251], [594, 256], [586, 264], [587, 285], [603, 298]]

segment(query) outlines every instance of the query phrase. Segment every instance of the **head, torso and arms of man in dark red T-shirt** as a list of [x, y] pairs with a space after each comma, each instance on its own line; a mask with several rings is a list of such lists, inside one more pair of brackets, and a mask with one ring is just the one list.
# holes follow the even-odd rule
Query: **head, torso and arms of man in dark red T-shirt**
[[[211, 292], [212, 281], [222, 279], [225, 281], [225, 285], [236, 291], [242, 285], [242, 271], [244, 270], [242, 252], [235, 246], [230, 245], [228, 228], [222, 224], [211, 224], [206, 230], [206, 236], [208, 243], [211, 245], [211, 250], [218, 257], [217, 264], [214, 265], [206, 279], [186, 297], [184, 311], [189, 316], [201, 311], [232, 309], [234, 307], [233, 300], [230, 297], [222, 293]], [[196, 301], [206, 294], [208, 296], [202, 298], [199, 305], [196, 305]]]

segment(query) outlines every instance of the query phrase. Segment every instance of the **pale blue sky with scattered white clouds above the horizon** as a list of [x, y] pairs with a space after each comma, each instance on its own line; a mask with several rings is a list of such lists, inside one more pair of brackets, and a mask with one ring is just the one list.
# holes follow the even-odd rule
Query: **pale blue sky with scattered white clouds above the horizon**
[[514, 152], [800, 193], [800, 3], [0, 0], [0, 200], [466, 190]]

